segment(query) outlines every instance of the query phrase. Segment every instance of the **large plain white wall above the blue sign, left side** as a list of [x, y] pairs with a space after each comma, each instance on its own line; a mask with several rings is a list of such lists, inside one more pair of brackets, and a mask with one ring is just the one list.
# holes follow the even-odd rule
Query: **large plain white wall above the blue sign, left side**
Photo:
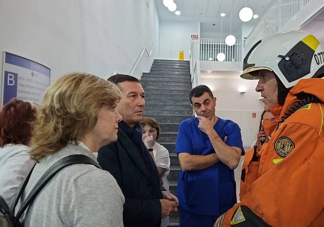
[[[154, 0], [1, 0], [0, 51], [37, 61], [51, 69], [51, 83], [71, 71], [108, 78], [148, 72], [159, 48]], [[0, 54], [0, 62], [3, 55]], [[2, 63], [0, 64], [2, 82]]]

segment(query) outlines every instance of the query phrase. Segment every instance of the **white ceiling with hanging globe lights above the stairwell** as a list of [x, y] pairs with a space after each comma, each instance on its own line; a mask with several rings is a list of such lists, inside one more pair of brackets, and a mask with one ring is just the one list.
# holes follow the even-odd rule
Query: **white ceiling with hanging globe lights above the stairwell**
[[[253, 10], [254, 14], [258, 14], [259, 18], [252, 18], [248, 22], [243, 22], [239, 18], [239, 11], [245, 7], [245, 0], [173, 0], [177, 6], [176, 10], [181, 12], [180, 15], [170, 12], [163, 5], [163, 0], [155, 1], [160, 20], [200, 22], [201, 33], [220, 33], [222, 18], [220, 13], [226, 13], [226, 16], [222, 18], [224, 36], [230, 33], [230, 24], [231, 33], [239, 30], [243, 23], [257, 24], [272, 2], [272, 0], [246, 0], [247, 6]], [[230, 23], [230, 20], [232, 20], [232, 23]]]

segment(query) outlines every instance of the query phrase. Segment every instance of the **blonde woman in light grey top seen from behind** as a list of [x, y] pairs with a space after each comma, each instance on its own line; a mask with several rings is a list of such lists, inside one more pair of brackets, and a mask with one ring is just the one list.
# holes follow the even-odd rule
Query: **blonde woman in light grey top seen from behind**
[[[45, 91], [34, 123], [31, 158], [37, 162], [23, 199], [42, 174], [68, 155], [92, 153], [117, 140], [121, 99], [116, 85], [86, 73], [59, 78]], [[107, 196], [109, 195], [109, 196]], [[123, 227], [124, 196], [109, 172], [74, 164], [58, 172], [26, 211], [24, 227]]]

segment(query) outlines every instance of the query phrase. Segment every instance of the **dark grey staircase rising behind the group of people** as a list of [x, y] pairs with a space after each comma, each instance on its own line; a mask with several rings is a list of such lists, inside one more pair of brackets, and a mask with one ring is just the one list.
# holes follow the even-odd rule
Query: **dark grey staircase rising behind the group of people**
[[[143, 73], [142, 86], [145, 91], [145, 116], [154, 117], [160, 124], [158, 143], [170, 156], [170, 173], [167, 177], [170, 192], [176, 194], [180, 170], [178, 157], [174, 153], [179, 123], [193, 117], [189, 103], [191, 76], [189, 61], [154, 60], [151, 72]], [[170, 226], [179, 226], [178, 214], [170, 216]]]

